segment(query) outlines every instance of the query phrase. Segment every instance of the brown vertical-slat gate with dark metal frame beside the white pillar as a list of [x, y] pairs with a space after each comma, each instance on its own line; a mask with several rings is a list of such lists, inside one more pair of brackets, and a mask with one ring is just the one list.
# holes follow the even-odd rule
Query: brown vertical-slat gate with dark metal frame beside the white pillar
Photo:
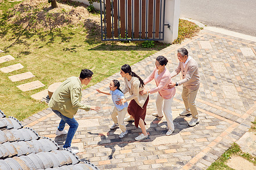
[[101, 39], [163, 40], [166, 0], [102, 0]]

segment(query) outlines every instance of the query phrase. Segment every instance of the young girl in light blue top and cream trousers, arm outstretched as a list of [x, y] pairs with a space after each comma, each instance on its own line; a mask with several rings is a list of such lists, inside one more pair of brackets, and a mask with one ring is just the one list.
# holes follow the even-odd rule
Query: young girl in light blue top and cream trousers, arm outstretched
[[[122, 105], [116, 104], [116, 101], [125, 99], [125, 96], [123, 95], [123, 92], [120, 90], [120, 83], [118, 80], [112, 80], [109, 84], [110, 92], [103, 92], [98, 89], [96, 89], [97, 92], [105, 95], [112, 95], [112, 100], [115, 105], [113, 112], [111, 114], [112, 120], [114, 121], [114, 125], [110, 128], [111, 130], [118, 128], [118, 125], [120, 126], [120, 129], [122, 130], [122, 133], [119, 135], [119, 138], [125, 137], [125, 135], [128, 133], [126, 130], [125, 123], [123, 122], [125, 118], [125, 114], [127, 112], [127, 102], [123, 103]], [[117, 118], [118, 115], [118, 118]]]

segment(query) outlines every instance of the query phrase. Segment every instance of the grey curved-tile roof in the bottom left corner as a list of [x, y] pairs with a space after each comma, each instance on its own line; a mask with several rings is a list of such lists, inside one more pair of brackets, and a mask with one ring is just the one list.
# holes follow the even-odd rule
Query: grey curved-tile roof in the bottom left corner
[[0, 110], [0, 169], [98, 169]]

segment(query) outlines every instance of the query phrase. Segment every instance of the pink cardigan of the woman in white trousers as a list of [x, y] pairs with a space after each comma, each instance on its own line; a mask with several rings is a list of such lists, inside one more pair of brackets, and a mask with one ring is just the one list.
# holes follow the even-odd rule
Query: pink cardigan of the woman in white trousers
[[172, 82], [170, 72], [165, 68], [164, 71], [158, 75], [158, 78], [156, 78], [157, 73], [158, 70], [155, 68], [150, 76], [144, 80], [144, 84], [147, 84], [151, 82], [152, 79], [155, 79], [157, 87], [150, 89], [150, 94], [159, 92], [160, 96], [162, 96], [164, 99], [171, 99], [175, 95], [176, 89], [175, 87], [170, 89], [167, 87], [168, 84]]

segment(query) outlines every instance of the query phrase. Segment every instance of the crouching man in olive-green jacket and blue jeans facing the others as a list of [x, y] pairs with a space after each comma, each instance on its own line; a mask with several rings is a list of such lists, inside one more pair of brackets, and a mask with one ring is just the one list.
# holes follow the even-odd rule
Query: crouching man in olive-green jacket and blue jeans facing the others
[[[56, 135], [68, 134], [63, 148], [68, 148], [75, 154], [78, 153], [78, 150], [71, 148], [71, 141], [79, 126], [74, 118], [77, 110], [84, 109], [85, 111], [89, 111], [91, 109], [100, 111], [100, 107], [92, 107], [81, 103], [82, 84], [86, 86], [92, 80], [92, 75], [92, 71], [84, 69], [81, 71], [79, 77], [72, 76], [67, 78], [53, 93], [48, 104], [52, 111], [61, 118]], [[69, 125], [68, 132], [64, 130], [66, 123]]]

